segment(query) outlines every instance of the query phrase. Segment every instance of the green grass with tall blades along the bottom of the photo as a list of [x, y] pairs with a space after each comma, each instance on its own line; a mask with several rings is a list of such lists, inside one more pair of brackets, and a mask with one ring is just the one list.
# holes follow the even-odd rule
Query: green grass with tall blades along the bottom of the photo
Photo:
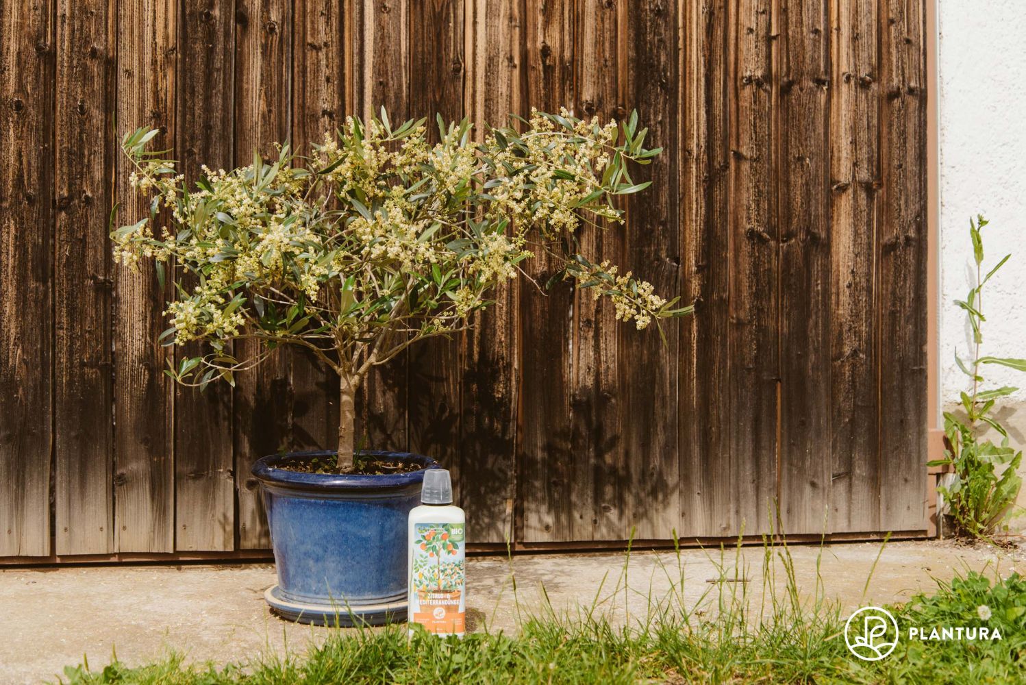
[[[647, 597], [644, 616], [610, 621], [608, 603], [636, 591], [626, 566], [595, 602], [576, 614], [546, 605], [519, 634], [407, 638], [405, 626], [333, 633], [305, 656], [230, 664], [190, 664], [182, 655], [140, 668], [116, 659], [102, 671], [83, 663], [64, 683], [221, 685], [271, 683], [1012, 683], [1026, 682], [1026, 580], [979, 573], [939, 582], [933, 595], [892, 606], [902, 634], [895, 652], [860, 661], [844, 644], [846, 615], [824, 599], [818, 580], [802, 599], [786, 545], [767, 540], [763, 601], [749, 597], [740, 554], [720, 551], [719, 582], [698, 602], [684, 602], [684, 566], [666, 567], [671, 591]], [[629, 558], [628, 558], [629, 559]], [[603, 582], [603, 585], [605, 585]], [[868, 585], [868, 583], [867, 583]], [[515, 586], [514, 586], [515, 587]], [[989, 619], [980, 617], [987, 606]], [[985, 612], [983, 612], [985, 613]], [[997, 627], [1000, 642], [908, 640], [908, 628]]]

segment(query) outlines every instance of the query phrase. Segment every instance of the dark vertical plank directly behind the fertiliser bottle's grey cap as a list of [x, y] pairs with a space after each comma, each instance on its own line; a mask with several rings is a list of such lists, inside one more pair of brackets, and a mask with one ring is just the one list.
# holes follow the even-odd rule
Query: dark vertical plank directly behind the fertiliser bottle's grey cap
[[[410, 5], [409, 116], [427, 117], [437, 142], [434, 115], [464, 116], [464, 3], [429, 0]], [[461, 496], [459, 334], [429, 338], [409, 351], [409, 450], [452, 471], [453, 497]]]

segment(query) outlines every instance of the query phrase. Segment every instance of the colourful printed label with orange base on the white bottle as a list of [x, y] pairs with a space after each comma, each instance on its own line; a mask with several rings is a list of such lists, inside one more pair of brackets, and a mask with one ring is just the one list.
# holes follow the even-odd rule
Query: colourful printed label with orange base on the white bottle
[[428, 633], [462, 634], [467, 613], [464, 524], [418, 523], [413, 532], [410, 615]]

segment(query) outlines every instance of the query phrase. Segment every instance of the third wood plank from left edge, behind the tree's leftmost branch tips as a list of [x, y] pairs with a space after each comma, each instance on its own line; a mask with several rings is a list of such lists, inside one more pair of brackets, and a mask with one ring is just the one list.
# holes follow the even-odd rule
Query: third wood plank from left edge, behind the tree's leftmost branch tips
[[[159, 128], [156, 150], [172, 147], [173, 46], [177, 5], [145, 0], [118, 5], [118, 135]], [[131, 162], [115, 153], [118, 215], [143, 216], [145, 198], [128, 186]], [[166, 220], [166, 214], [161, 217]], [[114, 291], [114, 539], [118, 552], [174, 551], [174, 394], [164, 375], [170, 354], [157, 338], [166, 328], [152, 265], [116, 267]]]

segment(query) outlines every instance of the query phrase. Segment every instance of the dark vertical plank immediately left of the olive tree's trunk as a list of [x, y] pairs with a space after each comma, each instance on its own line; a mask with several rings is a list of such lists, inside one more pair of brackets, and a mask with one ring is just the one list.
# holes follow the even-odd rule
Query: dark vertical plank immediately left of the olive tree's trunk
[[[292, 19], [291, 137], [295, 151], [334, 134], [345, 120], [345, 12], [331, 0], [295, 2]], [[314, 355], [289, 350], [293, 449], [334, 449], [339, 440], [339, 379]], [[246, 487], [256, 484], [246, 483]]]

